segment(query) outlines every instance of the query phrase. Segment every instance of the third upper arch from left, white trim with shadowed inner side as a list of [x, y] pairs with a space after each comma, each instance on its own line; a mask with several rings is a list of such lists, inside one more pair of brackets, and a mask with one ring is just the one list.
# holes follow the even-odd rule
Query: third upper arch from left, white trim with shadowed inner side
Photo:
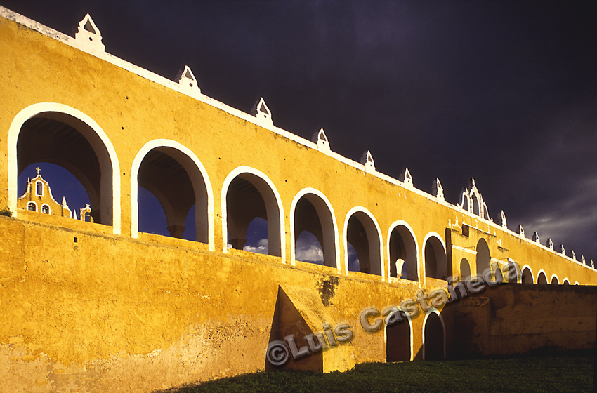
[[[268, 220], [268, 250], [270, 255], [282, 258], [286, 261], [286, 248], [284, 246], [284, 207], [282, 206], [282, 199], [277, 192], [273, 182], [263, 172], [258, 171], [250, 166], [239, 166], [233, 169], [228, 176], [226, 176], [222, 185], [222, 234], [223, 234], [223, 253], [228, 253], [228, 225], [232, 225], [235, 232], [242, 232], [242, 227], [249, 225], [248, 222], [234, 222], [228, 216], [228, 191], [232, 180], [240, 178], [251, 185], [261, 195], [263, 203], [265, 204], [266, 219]], [[230, 222], [228, 222], [230, 220]], [[246, 230], [246, 229], [245, 229]], [[237, 236], [237, 234], [232, 234]], [[241, 245], [242, 246], [242, 245]]]

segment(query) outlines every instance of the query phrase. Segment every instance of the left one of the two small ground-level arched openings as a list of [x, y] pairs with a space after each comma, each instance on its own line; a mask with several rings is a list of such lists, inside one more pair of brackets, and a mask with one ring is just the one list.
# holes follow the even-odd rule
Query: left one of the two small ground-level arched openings
[[[398, 307], [400, 321], [386, 324], [386, 362], [411, 361], [413, 355], [412, 321], [408, 312]], [[388, 314], [390, 317], [393, 314]]]

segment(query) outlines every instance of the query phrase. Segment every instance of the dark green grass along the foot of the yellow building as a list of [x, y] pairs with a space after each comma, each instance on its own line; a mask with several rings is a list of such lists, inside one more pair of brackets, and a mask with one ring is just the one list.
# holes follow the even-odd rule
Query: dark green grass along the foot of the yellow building
[[593, 357], [551, 356], [483, 360], [370, 363], [344, 373], [273, 371], [169, 389], [199, 392], [591, 392]]

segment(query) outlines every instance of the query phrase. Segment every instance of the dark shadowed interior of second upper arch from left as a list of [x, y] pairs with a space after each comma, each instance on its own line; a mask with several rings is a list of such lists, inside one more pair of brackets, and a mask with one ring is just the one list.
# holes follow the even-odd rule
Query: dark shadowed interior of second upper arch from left
[[[138, 172], [138, 187], [143, 187], [151, 192], [162, 205], [166, 215], [164, 228], [171, 237], [183, 239], [185, 234], [185, 222], [190, 208], [195, 204], [195, 189], [185, 167], [171, 154], [171, 148], [152, 149], [141, 161]], [[139, 201], [141, 204], [142, 201]], [[145, 206], [139, 206], [138, 211], [147, 214], [155, 214], [146, 211]], [[140, 232], [143, 228], [139, 227]], [[188, 237], [187, 239], [196, 239]], [[207, 239], [197, 239], [207, 243]]]

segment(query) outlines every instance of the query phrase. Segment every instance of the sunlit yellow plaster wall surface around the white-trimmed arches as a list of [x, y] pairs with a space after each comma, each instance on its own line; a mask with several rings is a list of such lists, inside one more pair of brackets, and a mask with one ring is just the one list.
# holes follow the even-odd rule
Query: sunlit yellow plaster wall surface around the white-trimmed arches
[[[445, 286], [445, 281], [424, 279], [423, 241], [431, 232], [446, 241], [447, 228], [456, 246], [485, 237], [494, 258], [512, 258], [521, 267], [530, 265], [534, 274], [542, 268], [572, 284], [596, 282], [594, 269], [431, 195], [366, 173], [359, 164], [346, 164], [13, 20], [0, 18], [0, 53], [0, 206], [8, 206], [7, 138], [13, 119], [30, 105], [55, 102], [86, 114], [106, 133], [119, 161], [122, 208], [120, 235], [105, 225], [27, 211], [0, 217], [0, 312], [6, 316], [0, 322], [0, 364], [10, 370], [0, 377], [3, 389], [105, 392], [119, 381], [143, 392], [263, 369], [278, 286], [319, 291], [329, 277], [338, 282], [326, 308], [337, 322], [354, 328], [355, 361], [384, 361], [383, 333], [360, 328], [360, 313], [399, 305], [420, 288]], [[181, 239], [131, 237], [133, 159], [155, 139], [181, 143], [206, 169], [214, 195], [215, 252]], [[221, 252], [223, 183], [240, 166], [263, 172], [280, 194], [285, 259]], [[291, 264], [289, 212], [294, 196], [306, 187], [322, 192], [334, 208], [339, 272]], [[379, 224], [382, 277], [344, 274], [343, 225], [355, 206], [366, 208]], [[388, 284], [388, 229], [397, 220], [407, 222], [416, 237], [419, 282]], [[460, 227], [454, 226], [457, 220]], [[465, 222], [481, 230], [463, 237], [459, 231]], [[452, 255], [448, 271], [456, 272], [464, 254], [452, 244], [447, 248]], [[474, 258], [467, 259], [473, 267]], [[423, 318], [412, 324], [416, 354]]]

